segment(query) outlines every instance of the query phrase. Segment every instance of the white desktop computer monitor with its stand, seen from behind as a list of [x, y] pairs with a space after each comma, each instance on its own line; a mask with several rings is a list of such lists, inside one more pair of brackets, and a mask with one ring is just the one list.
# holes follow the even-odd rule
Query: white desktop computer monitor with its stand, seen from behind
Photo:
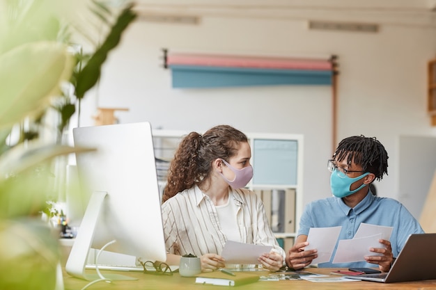
[[[65, 270], [85, 280], [90, 248], [165, 261], [161, 202], [150, 123], [73, 129], [75, 146], [95, 151], [76, 154], [84, 217]], [[110, 243], [111, 241], [115, 243]], [[108, 244], [109, 243], [109, 244]], [[114, 275], [110, 280], [125, 280]], [[101, 278], [101, 276], [100, 276]]]

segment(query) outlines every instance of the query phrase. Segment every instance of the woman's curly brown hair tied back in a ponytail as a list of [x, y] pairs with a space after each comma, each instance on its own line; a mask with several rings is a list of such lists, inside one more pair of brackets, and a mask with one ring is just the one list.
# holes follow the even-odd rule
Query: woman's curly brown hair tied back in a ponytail
[[208, 180], [212, 161], [217, 158], [228, 161], [243, 142], [248, 142], [247, 136], [228, 125], [213, 127], [203, 135], [189, 133], [180, 141], [169, 166], [162, 202]]

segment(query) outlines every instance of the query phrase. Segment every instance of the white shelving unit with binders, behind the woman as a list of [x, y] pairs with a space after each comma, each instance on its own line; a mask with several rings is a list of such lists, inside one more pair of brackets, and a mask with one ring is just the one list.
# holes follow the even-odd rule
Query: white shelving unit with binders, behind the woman
[[[161, 194], [165, 168], [187, 131], [153, 129], [155, 156]], [[302, 214], [303, 148], [300, 134], [246, 133], [251, 146], [254, 177], [248, 188], [262, 198], [277, 239], [293, 243]], [[289, 230], [292, 229], [292, 230]], [[289, 245], [284, 245], [284, 248]]]

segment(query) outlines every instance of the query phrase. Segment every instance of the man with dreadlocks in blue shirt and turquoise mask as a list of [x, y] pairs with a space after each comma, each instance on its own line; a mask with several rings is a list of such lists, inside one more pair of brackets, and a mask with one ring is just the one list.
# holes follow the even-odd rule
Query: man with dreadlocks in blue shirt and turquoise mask
[[390, 241], [379, 240], [382, 248], [371, 248], [375, 255], [352, 263], [332, 264], [330, 260], [318, 266], [348, 268], [378, 264], [380, 271], [389, 271], [407, 236], [423, 233], [423, 229], [403, 204], [371, 193], [369, 184], [387, 174], [387, 159], [386, 150], [376, 138], [352, 136], [339, 143], [327, 163], [332, 172], [330, 186], [334, 196], [311, 202], [304, 209], [297, 239], [286, 255], [288, 267], [295, 270], [304, 268], [318, 257], [316, 249], [304, 250], [309, 245], [306, 240], [311, 227], [342, 226], [339, 239], [352, 239], [359, 225], [368, 223], [394, 228]]

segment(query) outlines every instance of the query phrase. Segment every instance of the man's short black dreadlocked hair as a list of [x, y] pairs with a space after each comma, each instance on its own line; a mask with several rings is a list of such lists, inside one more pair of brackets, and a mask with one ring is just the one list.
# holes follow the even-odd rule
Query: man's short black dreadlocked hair
[[371, 172], [377, 180], [387, 175], [387, 152], [375, 137], [351, 136], [341, 140], [333, 158], [343, 161], [347, 157], [348, 165], [354, 161], [362, 170]]

